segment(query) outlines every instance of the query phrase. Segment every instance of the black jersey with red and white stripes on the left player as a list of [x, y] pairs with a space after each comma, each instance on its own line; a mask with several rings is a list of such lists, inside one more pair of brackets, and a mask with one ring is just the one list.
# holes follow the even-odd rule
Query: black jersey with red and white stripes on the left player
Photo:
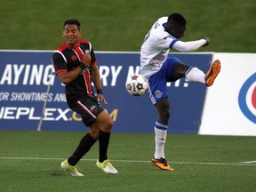
[[[88, 52], [90, 52], [92, 58], [91, 66], [96, 65], [97, 60], [92, 49], [92, 44], [89, 41], [79, 39], [79, 44], [75, 47], [70, 47], [68, 44], [61, 44], [52, 54], [55, 74], [58, 75], [60, 72], [71, 71], [77, 68], [81, 63], [83, 55]], [[67, 100], [79, 98], [83, 95], [93, 95], [91, 70], [80, 74], [71, 83], [66, 84]]]

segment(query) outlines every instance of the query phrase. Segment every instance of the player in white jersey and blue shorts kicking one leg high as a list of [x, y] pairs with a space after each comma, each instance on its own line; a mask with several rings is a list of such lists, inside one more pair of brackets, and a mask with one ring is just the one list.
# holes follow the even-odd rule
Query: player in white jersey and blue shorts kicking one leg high
[[153, 24], [140, 49], [140, 74], [148, 78], [148, 95], [158, 113], [155, 124], [155, 155], [153, 165], [162, 170], [174, 171], [164, 156], [164, 144], [170, 118], [167, 82], [185, 77], [189, 82], [201, 82], [211, 86], [220, 72], [220, 60], [214, 60], [206, 75], [198, 68], [190, 67], [181, 60], [168, 57], [170, 49], [180, 52], [196, 51], [210, 43], [208, 37], [182, 42], [187, 21], [180, 13], [162, 17]]

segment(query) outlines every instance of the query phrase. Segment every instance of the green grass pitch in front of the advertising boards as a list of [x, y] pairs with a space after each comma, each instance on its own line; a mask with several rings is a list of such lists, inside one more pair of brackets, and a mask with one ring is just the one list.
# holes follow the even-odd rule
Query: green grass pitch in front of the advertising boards
[[174, 172], [150, 164], [154, 135], [113, 133], [108, 157], [119, 171], [95, 165], [98, 143], [72, 177], [60, 162], [84, 132], [0, 131], [0, 191], [255, 191], [255, 137], [168, 135], [165, 155]]

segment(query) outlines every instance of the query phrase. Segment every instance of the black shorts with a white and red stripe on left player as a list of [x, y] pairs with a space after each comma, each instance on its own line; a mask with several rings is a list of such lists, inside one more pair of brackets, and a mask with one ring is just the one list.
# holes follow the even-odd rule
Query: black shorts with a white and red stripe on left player
[[83, 97], [79, 100], [68, 100], [68, 106], [82, 117], [85, 126], [95, 123], [97, 116], [104, 110], [96, 97]]

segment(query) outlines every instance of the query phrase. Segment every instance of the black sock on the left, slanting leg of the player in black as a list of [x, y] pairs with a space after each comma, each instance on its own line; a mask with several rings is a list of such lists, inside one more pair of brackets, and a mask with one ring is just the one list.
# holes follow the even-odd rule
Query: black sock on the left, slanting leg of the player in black
[[77, 162], [90, 150], [90, 148], [92, 148], [96, 141], [97, 140], [94, 140], [89, 133], [84, 135], [76, 148], [76, 151], [68, 158], [68, 164], [72, 166], [76, 165]]

